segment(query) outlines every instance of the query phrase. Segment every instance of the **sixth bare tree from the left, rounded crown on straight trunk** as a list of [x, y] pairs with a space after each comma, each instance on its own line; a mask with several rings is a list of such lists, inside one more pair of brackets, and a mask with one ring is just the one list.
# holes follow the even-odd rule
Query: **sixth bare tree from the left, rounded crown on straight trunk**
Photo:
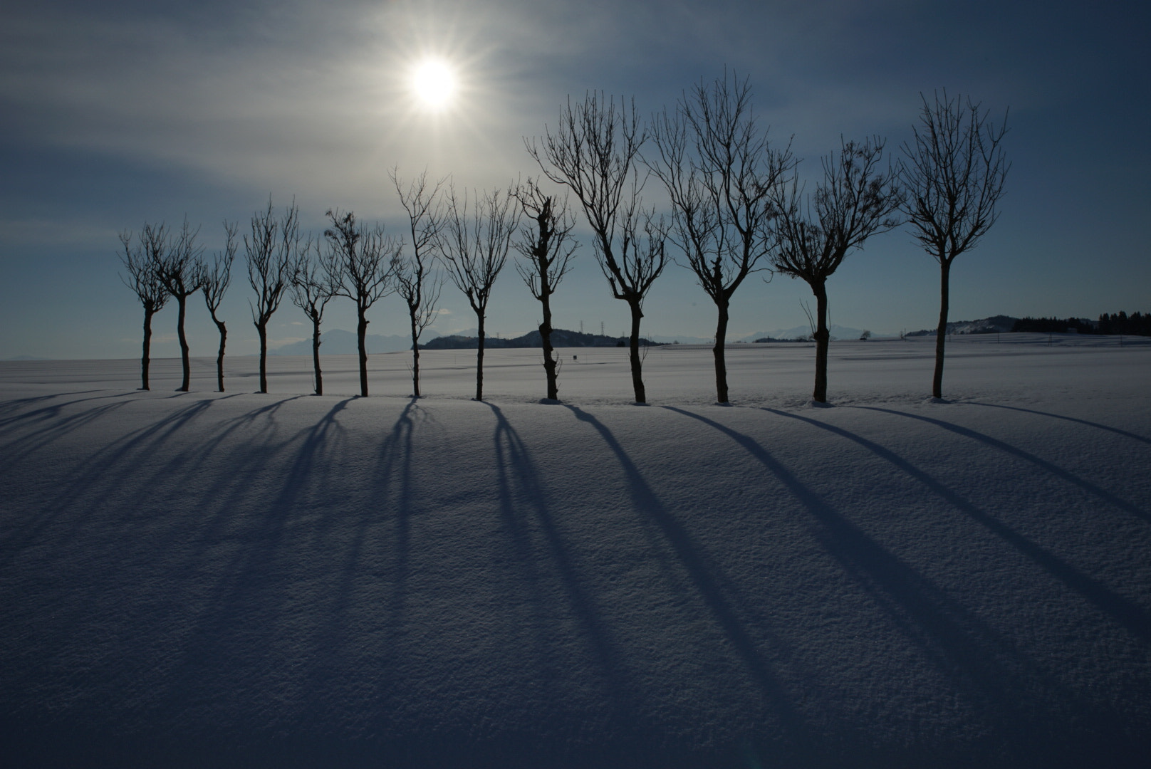
[[331, 227], [323, 230], [328, 251], [325, 269], [331, 282], [333, 296], [356, 303], [356, 337], [359, 343], [360, 396], [367, 397], [367, 311], [394, 289], [403, 241], [384, 235], [383, 227], [361, 228], [356, 214], [328, 211]]

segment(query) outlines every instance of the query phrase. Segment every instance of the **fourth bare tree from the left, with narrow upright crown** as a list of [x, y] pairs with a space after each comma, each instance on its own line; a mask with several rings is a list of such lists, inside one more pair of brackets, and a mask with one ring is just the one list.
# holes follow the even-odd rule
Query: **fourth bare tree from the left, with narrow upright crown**
[[299, 210], [296, 201], [277, 219], [268, 207], [252, 214], [252, 234], [244, 236], [247, 282], [256, 291], [252, 325], [260, 336], [260, 393], [268, 391], [268, 321], [280, 307], [291, 277], [291, 260], [299, 248]]

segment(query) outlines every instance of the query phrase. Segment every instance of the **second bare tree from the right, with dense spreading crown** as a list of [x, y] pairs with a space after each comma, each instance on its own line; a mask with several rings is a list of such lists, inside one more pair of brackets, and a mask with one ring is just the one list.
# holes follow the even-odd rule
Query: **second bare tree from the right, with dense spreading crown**
[[775, 268], [800, 277], [815, 294], [815, 391], [816, 403], [828, 401], [828, 277], [844, 257], [860, 249], [876, 233], [898, 227], [902, 193], [895, 170], [879, 169], [883, 139], [847, 142], [838, 153], [823, 159], [823, 182], [810, 198], [802, 195], [799, 180], [776, 195], [778, 250]]

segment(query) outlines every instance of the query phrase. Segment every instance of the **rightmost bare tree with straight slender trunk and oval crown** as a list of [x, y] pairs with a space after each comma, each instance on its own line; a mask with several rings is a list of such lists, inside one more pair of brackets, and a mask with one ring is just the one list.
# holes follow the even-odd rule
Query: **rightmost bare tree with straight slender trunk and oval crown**
[[947, 303], [951, 262], [975, 246], [999, 219], [997, 204], [1004, 193], [1006, 161], [1003, 138], [1007, 115], [997, 128], [978, 104], [955, 97], [923, 97], [920, 124], [913, 125], [915, 145], [904, 143], [906, 161], [900, 180], [907, 189], [904, 212], [914, 237], [939, 264], [939, 326], [936, 328], [936, 365], [931, 395], [943, 397], [944, 342], [947, 338]]

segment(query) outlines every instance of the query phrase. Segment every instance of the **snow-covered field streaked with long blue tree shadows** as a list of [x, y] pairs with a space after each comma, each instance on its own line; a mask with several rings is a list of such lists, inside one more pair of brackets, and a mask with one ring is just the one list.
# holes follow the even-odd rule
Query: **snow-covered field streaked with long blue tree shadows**
[[0, 363], [0, 763], [1143, 766], [1151, 345], [932, 349]]

